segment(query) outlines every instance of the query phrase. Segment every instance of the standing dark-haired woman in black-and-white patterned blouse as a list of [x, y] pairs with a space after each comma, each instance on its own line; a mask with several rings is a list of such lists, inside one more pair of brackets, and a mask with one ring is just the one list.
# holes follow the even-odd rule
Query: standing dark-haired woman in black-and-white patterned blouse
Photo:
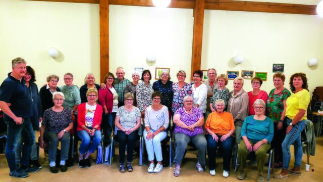
[[141, 112], [141, 118], [145, 118], [145, 109], [152, 105], [151, 95], [153, 93], [150, 84], [151, 74], [149, 70], [144, 70], [141, 75], [142, 82], [138, 83], [136, 88], [137, 107]]

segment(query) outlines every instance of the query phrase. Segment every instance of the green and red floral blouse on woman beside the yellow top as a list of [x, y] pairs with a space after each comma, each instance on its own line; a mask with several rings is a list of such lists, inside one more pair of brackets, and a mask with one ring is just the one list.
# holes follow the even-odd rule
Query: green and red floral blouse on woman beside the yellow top
[[281, 116], [284, 111], [284, 101], [291, 96], [291, 93], [287, 88], [278, 94], [274, 94], [274, 92], [275, 89], [272, 89], [268, 95], [266, 103], [266, 116], [273, 119], [274, 122], [278, 122], [281, 120]]

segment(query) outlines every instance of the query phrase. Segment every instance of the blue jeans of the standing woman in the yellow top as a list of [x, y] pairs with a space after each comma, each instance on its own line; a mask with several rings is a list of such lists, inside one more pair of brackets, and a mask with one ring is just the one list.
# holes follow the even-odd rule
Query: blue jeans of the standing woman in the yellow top
[[[291, 123], [291, 119], [287, 119], [287, 124]], [[285, 140], [282, 143], [283, 148], [283, 169], [288, 169], [289, 162], [291, 160], [290, 146], [294, 145], [295, 163], [294, 167], [300, 167], [303, 157], [302, 144], [301, 144], [301, 132], [305, 127], [305, 120], [299, 121], [291, 131], [286, 134]]]

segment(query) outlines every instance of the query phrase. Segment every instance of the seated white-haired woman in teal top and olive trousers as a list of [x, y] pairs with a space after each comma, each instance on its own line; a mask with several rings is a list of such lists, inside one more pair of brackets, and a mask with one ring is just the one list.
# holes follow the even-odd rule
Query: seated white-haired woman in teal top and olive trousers
[[[262, 99], [257, 99], [253, 103], [255, 115], [248, 116], [244, 120], [241, 129], [243, 142], [240, 143], [238, 149], [240, 165], [240, 173], [238, 179], [242, 180], [247, 176], [245, 168], [247, 167], [247, 155], [250, 152], [256, 153], [258, 167], [258, 182], [264, 181], [262, 170], [266, 161], [266, 153], [271, 148], [270, 143], [274, 136], [273, 120], [264, 115], [266, 104]], [[250, 108], [251, 109], [251, 108]]]

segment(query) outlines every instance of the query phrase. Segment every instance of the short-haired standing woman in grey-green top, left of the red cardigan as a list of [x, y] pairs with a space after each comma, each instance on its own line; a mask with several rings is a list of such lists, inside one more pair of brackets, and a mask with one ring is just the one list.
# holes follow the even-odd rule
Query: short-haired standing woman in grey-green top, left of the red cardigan
[[63, 106], [72, 110], [72, 114], [76, 117], [77, 107], [81, 104], [80, 89], [73, 84], [73, 74], [65, 73], [65, 85], [61, 87], [61, 92], [65, 96]]

